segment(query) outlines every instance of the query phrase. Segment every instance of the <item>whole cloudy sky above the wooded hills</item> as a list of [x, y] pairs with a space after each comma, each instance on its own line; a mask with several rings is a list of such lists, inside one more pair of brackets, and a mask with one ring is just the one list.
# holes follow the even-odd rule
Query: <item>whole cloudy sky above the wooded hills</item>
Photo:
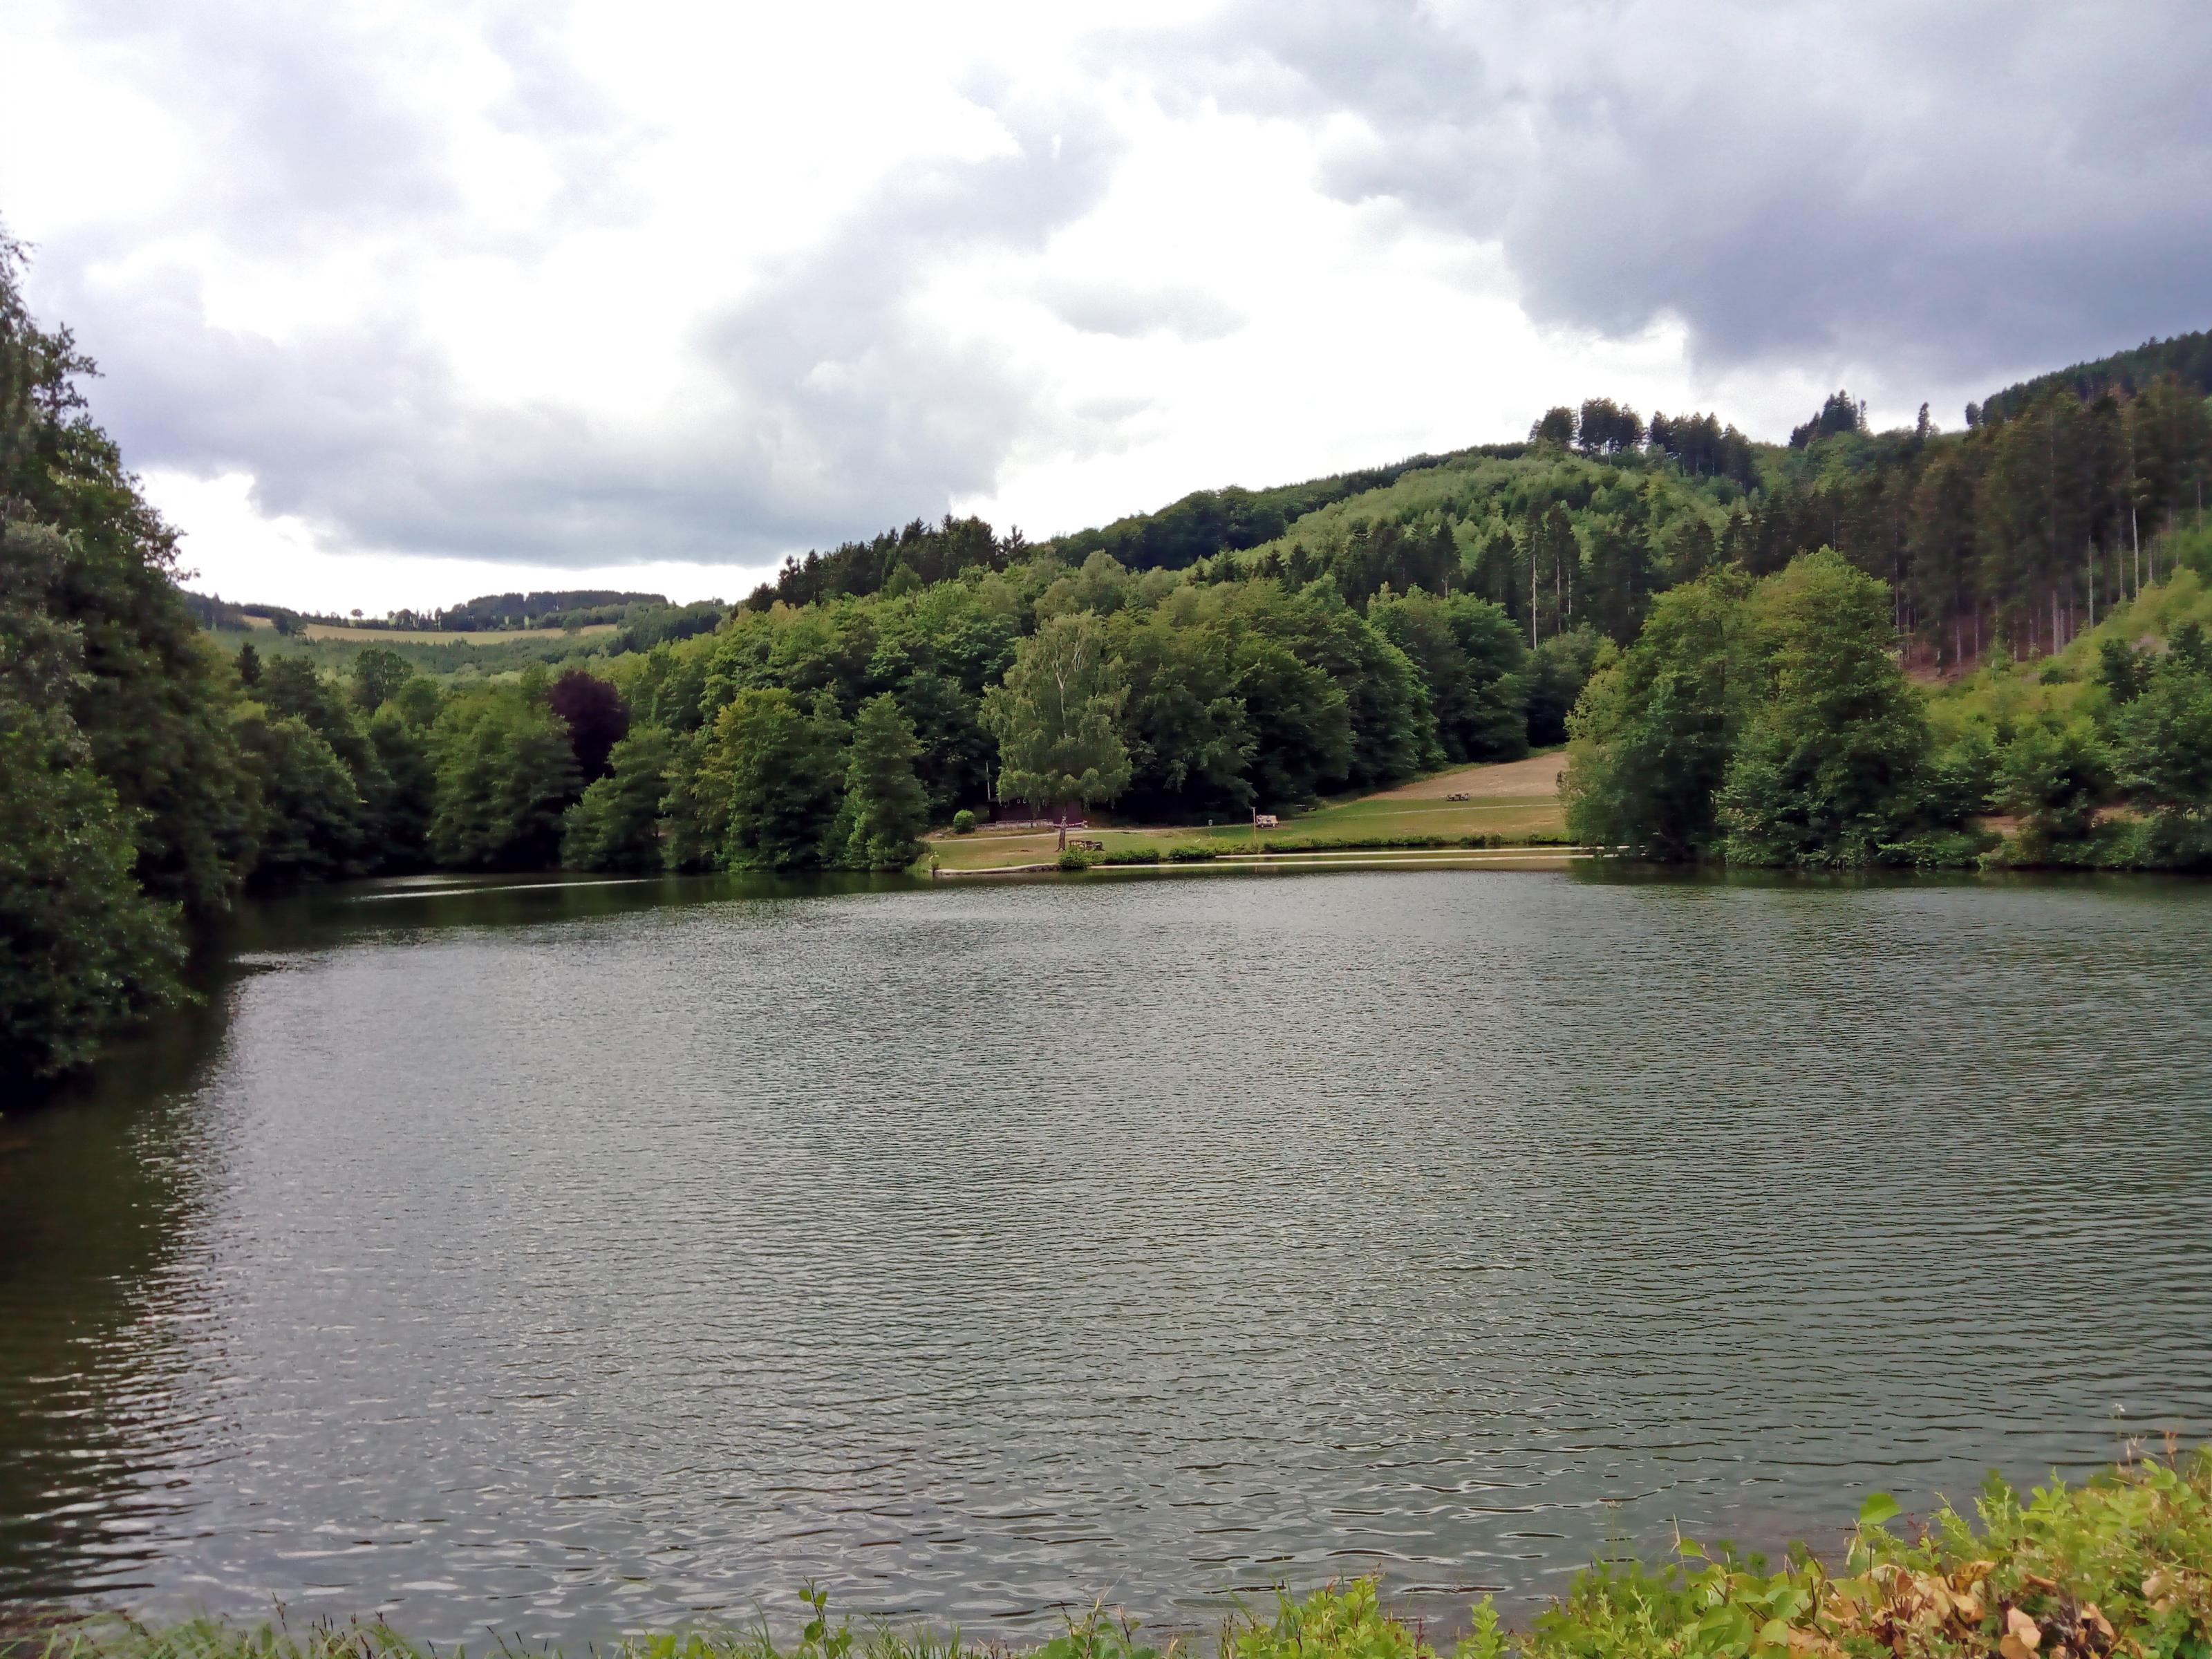
[[978, 511], [1880, 422], [2212, 323], [2212, 9], [7, 0], [0, 223], [197, 586], [737, 597]]

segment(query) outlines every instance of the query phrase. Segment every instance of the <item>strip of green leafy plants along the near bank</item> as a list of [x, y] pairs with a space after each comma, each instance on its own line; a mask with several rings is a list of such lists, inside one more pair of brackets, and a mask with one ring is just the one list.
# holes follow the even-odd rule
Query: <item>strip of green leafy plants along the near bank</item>
[[[1006, 1652], [958, 1632], [812, 1617], [792, 1641], [754, 1628], [626, 1637], [606, 1659], [962, 1659]], [[491, 1644], [498, 1652], [551, 1652]], [[1093, 1608], [1033, 1648], [1035, 1659], [1440, 1659], [1422, 1628], [1391, 1617], [1374, 1579], [1352, 1579], [1267, 1613], [1239, 1610], [1210, 1644], [1150, 1644], [1139, 1626]], [[1973, 1515], [1944, 1506], [1898, 1528], [1876, 1493], [1832, 1566], [1803, 1546], [1772, 1568], [1728, 1546], [1679, 1546], [1666, 1566], [1599, 1564], [1524, 1630], [1473, 1604], [1453, 1659], [2212, 1659], [2212, 1449], [2130, 1460], [2084, 1486], [2053, 1480], [2026, 1498], [1991, 1478]], [[0, 1637], [0, 1659], [420, 1659], [385, 1624], [281, 1626], [195, 1621], [146, 1628], [97, 1617]]]

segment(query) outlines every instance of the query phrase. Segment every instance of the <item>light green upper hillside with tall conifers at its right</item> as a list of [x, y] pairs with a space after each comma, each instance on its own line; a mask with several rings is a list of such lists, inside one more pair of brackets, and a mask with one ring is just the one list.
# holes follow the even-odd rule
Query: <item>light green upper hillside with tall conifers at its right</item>
[[1551, 409], [1511, 462], [1444, 462], [1225, 557], [1354, 597], [1464, 584], [1531, 641], [1588, 626], [1626, 644], [1679, 582], [1772, 575], [1829, 546], [1885, 584], [1920, 666], [2048, 655], [2159, 580], [2170, 533], [2203, 522], [2212, 405], [2179, 372], [2037, 385], [1955, 434], [1924, 407], [1869, 431], [1836, 392], [1787, 447], [1593, 398]]

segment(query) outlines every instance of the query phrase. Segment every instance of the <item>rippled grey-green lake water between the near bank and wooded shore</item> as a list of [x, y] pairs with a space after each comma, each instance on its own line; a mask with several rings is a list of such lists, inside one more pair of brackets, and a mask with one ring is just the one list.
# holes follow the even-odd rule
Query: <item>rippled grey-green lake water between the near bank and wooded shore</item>
[[[0, 1593], [1542, 1595], [2212, 1418], [2212, 891], [538, 887], [0, 1124]], [[1444, 1606], [1444, 1601], [1436, 1601]]]

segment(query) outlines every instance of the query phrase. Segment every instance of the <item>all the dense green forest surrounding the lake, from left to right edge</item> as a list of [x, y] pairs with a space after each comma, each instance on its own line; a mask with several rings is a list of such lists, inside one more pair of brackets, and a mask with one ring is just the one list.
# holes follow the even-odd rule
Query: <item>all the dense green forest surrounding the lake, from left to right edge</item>
[[1571, 734], [1575, 830], [1655, 858], [2212, 856], [2203, 336], [1964, 434], [1869, 431], [1838, 392], [1754, 445], [1590, 398], [1526, 442], [1053, 542], [916, 520], [734, 608], [487, 595], [369, 628], [179, 591], [91, 363], [18, 274], [7, 250], [13, 1079], [184, 995], [248, 889], [898, 869], [956, 812], [1290, 812]]

